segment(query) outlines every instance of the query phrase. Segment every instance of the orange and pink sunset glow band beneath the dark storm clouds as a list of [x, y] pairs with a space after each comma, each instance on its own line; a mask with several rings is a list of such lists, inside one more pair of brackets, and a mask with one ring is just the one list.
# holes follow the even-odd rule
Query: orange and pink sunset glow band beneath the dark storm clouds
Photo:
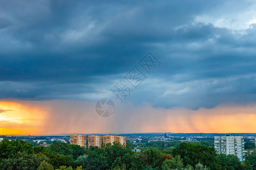
[[[254, 133], [256, 129], [256, 106], [253, 104], [220, 105], [212, 109], [200, 108], [196, 111], [185, 108], [160, 109], [150, 106], [131, 106], [119, 108], [120, 112], [122, 109], [127, 109], [129, 118], [118, 114], [117, 110], [117, 113], [108, 119], [98, 117], [90, 105], [92, 104], [81, 101], [63, 100], [36, 101], [36, 103], [18, 100], [1, 101], [0, 134], [47, 135], [75, 132], [150, 133], [166, 131], [172, 133]], [[115, 128], [113, 124], [119, 128]]]

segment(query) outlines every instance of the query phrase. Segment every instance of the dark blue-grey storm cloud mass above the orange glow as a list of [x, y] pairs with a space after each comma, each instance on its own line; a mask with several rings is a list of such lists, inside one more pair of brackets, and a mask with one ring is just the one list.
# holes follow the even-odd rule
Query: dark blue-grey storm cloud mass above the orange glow
[[[241, 12], [249, 3], [237, 4]], [[229, 2], [1, 1], [0, 97], [97, 100], [151, 51], [162, 65], [131, 103], [255, 101], [255, 25], [195, 22], [223, 6]]]

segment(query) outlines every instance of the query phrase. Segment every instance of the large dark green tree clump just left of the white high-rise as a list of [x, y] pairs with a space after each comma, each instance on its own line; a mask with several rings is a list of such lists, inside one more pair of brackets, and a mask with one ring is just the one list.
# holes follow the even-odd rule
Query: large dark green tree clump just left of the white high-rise
[[174, 156], [180, 155], [184, 165], [189, 164], [195, 168], [197, 163], [202, 163], [210, 169], [221, 169], [213, 147], [183, 142], [172, 151], [172, 154]]

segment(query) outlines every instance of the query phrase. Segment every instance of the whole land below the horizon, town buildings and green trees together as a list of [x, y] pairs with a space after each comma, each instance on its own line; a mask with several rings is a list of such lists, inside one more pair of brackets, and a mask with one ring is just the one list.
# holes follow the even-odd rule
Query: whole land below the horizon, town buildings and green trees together
[[252, 170], [255, 138], [249, 133], [0, 135], [0, 169], [24, 164], [51, 170]]

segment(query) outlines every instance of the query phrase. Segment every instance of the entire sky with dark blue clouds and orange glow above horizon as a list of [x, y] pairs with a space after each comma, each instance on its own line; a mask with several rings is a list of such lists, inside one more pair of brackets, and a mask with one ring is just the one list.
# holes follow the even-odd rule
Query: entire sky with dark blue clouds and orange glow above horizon
[[255, 46], [255, 1], [0, 1], [0, 134], [256, 133]]

